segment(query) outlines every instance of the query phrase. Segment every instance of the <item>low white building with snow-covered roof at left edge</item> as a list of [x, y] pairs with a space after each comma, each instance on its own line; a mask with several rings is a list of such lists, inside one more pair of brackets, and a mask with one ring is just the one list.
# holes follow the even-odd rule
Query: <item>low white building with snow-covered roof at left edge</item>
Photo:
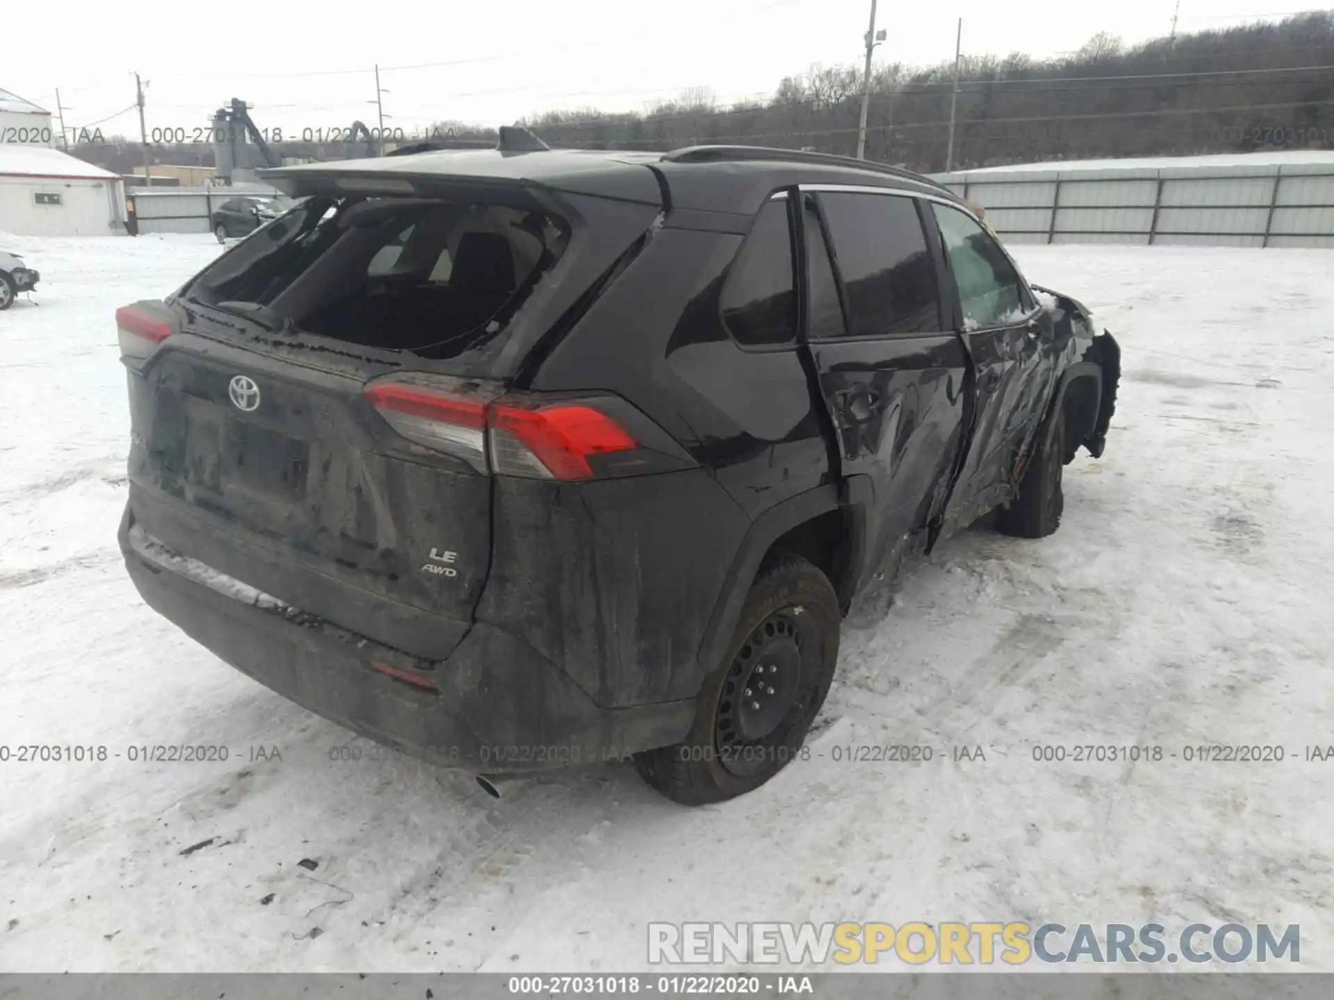
[[119, 175], [41, 145], [0, 143], [0, 232], [113, 236], [125, 232]]

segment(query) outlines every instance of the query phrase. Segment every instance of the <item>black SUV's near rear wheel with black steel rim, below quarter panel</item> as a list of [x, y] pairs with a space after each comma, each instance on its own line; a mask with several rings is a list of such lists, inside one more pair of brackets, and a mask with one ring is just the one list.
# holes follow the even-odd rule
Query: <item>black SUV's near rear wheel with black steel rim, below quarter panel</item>
[[824, 704], [840, 621], [824, 573], [798, 556], [767, 557], [723, 661], [704, 679], [690, 735], [636, 753], [640, 776], [684, 805], [726, 801], [774, 777], [800, 756]]

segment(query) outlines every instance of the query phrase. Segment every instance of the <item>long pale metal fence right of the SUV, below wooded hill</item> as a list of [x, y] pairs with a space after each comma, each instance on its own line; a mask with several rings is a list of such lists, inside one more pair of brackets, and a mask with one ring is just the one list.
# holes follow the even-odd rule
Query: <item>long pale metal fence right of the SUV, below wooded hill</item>
[[1009, 243], [1334, 248], [1334, 164], [935, 175]]

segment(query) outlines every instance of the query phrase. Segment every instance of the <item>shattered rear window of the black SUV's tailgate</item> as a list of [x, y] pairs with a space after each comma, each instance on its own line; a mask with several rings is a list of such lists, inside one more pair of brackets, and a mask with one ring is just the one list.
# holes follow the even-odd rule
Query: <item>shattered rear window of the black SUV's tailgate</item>
[[301, 333], [448, 359], [495, 339], [560, 259], [566, 220], [424, 197], [308, 199], [183, 296]]

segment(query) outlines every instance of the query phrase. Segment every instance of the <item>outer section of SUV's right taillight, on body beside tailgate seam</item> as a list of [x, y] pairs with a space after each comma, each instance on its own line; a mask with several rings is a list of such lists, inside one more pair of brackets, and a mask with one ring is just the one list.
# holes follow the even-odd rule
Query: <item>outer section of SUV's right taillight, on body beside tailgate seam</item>
[[522, 409], [492, 405], [491, 464], [496, 472], [543, 479], [592, 479], [592, 455], [639, 447], [620, 424], [582, 404]]

